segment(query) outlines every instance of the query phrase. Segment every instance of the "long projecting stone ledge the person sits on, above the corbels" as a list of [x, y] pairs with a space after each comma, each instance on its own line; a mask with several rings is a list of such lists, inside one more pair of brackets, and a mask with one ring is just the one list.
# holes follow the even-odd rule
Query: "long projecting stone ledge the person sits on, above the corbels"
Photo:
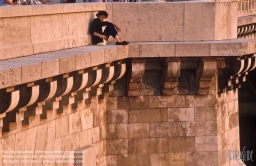
[[0, 89], [126, 58], [219, 57], [255, 53], [256, 40], [140, 42], [83, 46], [0, 61]]

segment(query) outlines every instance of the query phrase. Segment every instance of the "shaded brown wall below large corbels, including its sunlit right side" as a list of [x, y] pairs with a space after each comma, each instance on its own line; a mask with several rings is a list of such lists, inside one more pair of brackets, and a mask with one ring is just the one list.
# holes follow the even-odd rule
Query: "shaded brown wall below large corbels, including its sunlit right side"
[[[106, 165], [238, 164], [227, 157], [228, 150], [239, 151], [237, 91], [218, 95], [216, 80], [215, 74], [207, 95], [153, 96], [140, 89], [140, 94], [110, 97]], [[204, 80], [199, 84], [203, 91]]]

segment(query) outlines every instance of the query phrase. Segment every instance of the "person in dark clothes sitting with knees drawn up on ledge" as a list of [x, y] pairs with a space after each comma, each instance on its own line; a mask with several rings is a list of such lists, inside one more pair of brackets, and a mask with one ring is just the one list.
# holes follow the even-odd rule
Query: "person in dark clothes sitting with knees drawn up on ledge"
[[[108, 18], [108, 13], [106, 11], [99, 11], [96, 16], [97, 18], [93, 20], [90, 28], [92, 44], [106, 45], [106, 40], [108, 40], [109, 36], [112, 36], [116, 39], [116, 45], [129, 44], [129, 42], [123, 41], [117, 35], [117, 33], [121, 31], [120, 27], [111, 22], [104, 21], [106, 18]], [[102, 31], [103, 26], [106, 26], [104, 31]]]

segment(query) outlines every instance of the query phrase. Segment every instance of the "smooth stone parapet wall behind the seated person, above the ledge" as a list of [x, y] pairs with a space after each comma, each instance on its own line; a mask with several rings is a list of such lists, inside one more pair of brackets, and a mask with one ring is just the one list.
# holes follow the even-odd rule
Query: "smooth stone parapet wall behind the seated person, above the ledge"
[[[225, 5], [230, 10], [218, 12]], [[233, 3], [214, 2], [1, 7], [4, 33], [0, 36], [0, 59], [89, 45], [89, 25], [98, 10], [107, 10], [108, 20], [121, 26], [121, 37], [131, 42], [235, 39], [235, 8]], [[159, 12], [160, 9], [168, 10], [169, 14]]]

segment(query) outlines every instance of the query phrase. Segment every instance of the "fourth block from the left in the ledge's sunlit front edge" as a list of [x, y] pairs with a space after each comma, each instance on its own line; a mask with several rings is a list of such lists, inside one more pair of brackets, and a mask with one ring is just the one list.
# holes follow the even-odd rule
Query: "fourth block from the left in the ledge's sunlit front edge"
[[70, 73], [76, 70], [76, 57], [70, 56], [60, 59], [60, 74]]

